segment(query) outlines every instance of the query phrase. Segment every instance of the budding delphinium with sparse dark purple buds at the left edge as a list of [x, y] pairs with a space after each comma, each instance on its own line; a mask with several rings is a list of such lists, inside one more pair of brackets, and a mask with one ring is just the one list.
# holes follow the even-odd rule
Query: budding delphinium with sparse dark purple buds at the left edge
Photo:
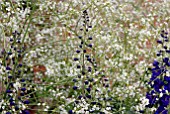
[[12, 33], [7, 46], [1, 52], [0, 110], [2, 114], [29, 114], [32, 96], [29, 70], [23, 63], [25, 46], [18, 31]]

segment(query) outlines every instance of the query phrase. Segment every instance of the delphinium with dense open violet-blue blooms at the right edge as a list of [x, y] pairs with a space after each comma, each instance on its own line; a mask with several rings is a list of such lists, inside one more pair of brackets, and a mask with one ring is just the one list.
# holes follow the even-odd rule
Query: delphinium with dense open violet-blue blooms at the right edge
[[[170, 112], [170, 47], [168, 32], [161, 31], [161, 39], [157, 40], [161, 49], [157, 59], [153, 61], [153, 68], [148, 82], [149, 91], [146, 93], [148, 103], [145, 107], [151, 108], [154, 114], [168, 114]], [[141, 111], [144, 112], [144, 111]]]

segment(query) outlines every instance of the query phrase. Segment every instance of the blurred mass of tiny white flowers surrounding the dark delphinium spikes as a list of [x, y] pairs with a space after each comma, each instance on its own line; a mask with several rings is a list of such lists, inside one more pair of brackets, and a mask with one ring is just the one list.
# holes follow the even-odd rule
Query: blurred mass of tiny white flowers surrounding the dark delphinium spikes
[[[126, 100], [144, 95], [145, 88], [140, 78], [143, 78], [148, 64], [150, 66], [150, 57], [154, 56], [151, 53], [156, 48], [153, 41], [163, 27], [168, 28], [168, 0], [36, 0], [28, 2], [25, 9], [22, 2], [0, 0], [0, 46], [8, 47], [7, 39], [11, 37], [11, 31], [22, 31], [21, 38], [25, 37], [24, 45], [27, 47], [23, 61], [28, 66], [44, 65], [46, 78], [53, 81], [74, 77], [78, 70], [74, 68], [72, 57], [77, 57], [74, 52], [80, 43], [76, 39], [82, 24], [79, 22], [80, 12], [87, 9], [93, 26], [90, 31], [95, 49], [92, 55], [110, 79], [108, 83], [112, 96]], [[10, 55], [12, 57], [14, 54]], [[3, 76], [5, 69], [4, 66], [0, 67], [2, 80], [7, 80]], [[42, 73], [35, 75], [41, 77]], [[99, 78], [94, 80], [100, 83]], [[21, 84], [15, 82], [14, 87], [18, 91]], [[42, 86], [39, 88], [44, 91]], [[70, 88], [65, 89], [60, 93], [67, 93]], [[100, 90], [100, 94], [106, 93], [106, 90]], [[0, 91], [3, 89], [0, 88]], [[57, 94], [59, 91], [52, 89], [50, 95], [62, 96]], [[96, 97], [100, 94], [96, 93]], [[66, 99], [65, 96], [62, 98]], [[147, 100], [144, 99], [136, 107], [137, 110], [144, 108], [147, 104], [144, 101]], [[82, 101], [82, 106], [75, 107], [74, 111], [89, 113], [84, 111], [88, 106]]]

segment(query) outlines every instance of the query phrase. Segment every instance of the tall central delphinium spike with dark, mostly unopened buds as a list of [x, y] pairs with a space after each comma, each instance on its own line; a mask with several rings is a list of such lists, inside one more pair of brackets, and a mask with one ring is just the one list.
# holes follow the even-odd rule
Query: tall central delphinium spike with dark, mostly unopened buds
[[83, 26], [78, 36], [80, 45], [74, 55], [74, 63], [78, 75], [73, 79], [74, 102], [68, 109], [69, 114], [109, 113], [112, 110], [109, 101], [109, 80], [95, 60], [95, 47], [90, 35], [92, 26], [88, 10], [83, 11]]

